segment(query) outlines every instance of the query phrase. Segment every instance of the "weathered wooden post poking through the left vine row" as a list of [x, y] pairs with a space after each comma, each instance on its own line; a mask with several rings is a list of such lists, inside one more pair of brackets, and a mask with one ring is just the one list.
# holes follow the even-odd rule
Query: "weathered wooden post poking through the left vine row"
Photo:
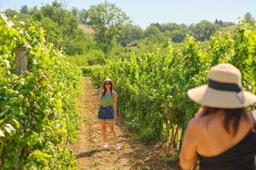
[[15, 49], [15, 64], [16, 64], [16, 74], [21, 75], [23, 71], [27, 70], [27, 49], [26, 47], [17, 47]]

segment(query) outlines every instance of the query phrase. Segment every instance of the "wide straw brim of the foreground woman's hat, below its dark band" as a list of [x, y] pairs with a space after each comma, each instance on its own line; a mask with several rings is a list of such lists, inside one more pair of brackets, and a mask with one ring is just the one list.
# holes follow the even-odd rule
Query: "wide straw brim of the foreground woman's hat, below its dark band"
[[242, 108], [256, 103], [256, 96], [249, 91], [218, 91], [208, 85], [190, 89], [187, 95], [196, 103], [217, 108]]

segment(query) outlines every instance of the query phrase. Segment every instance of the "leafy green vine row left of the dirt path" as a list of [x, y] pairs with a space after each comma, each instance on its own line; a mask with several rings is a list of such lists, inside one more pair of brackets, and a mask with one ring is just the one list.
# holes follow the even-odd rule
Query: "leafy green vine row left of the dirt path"
[[[5, 21], [0, 18], [1, 169], [76, 169], [65, 145], [78, 136], [81, 71], [45, 42], [43, 30]], [[28, 70], [17, 76], [20, 46], [27, 49]]]

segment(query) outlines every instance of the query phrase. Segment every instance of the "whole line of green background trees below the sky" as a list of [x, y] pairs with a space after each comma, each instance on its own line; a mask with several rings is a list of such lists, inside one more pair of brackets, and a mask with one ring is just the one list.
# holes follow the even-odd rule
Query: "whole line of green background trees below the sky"
[[[107, 1], [81, 10], [74, 7], [68, 10], [55, 1], [51, 5], [21, 6], [19, 11], [7, 9], [5, 12], [7, 17], [15, 18], [14, 21], [22, 20], [22, 27], [43, 28], [47, 42], [66, 55], [77, 56], [74, 60], [87, 66], [104, 65], [106, 59], [129, 58], [139, 51], [152, 52], [169, 41], [178, 44], [184, 42], [187, 35], [200, 42], [208, 41], [217, 30], [236, 25], [215, 19], [189, 26], [173, 22], [151, 23], [143, 30], [120, 7]], [[242, 20], [253, 21], [250, 13]], [[79, 28], [81, 24], [93, 29], [94, 33], [84, 33]]]

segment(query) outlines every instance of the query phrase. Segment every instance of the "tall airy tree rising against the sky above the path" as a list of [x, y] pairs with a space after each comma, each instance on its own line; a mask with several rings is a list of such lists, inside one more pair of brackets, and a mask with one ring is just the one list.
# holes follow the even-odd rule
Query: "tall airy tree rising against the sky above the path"
[[96, 42], [101, 44], [105, 53], [117, 40], [122, 28], [132, 23], [121, 8], [106, 1], [97, 6], [90, 6], [88, 10], [83, 10], [80, 20], [96, 30]]

